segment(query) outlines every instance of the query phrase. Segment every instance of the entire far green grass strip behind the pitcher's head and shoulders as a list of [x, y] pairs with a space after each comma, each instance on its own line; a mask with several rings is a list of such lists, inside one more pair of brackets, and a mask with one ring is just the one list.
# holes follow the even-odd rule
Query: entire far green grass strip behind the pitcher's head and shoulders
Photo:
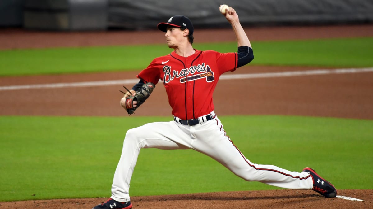
[[[253, 41], [252, 41], [253, 42]], [[236, 42], [195, 43], [200, 50], [236, 52]], [[253, 42], [251, 65], [372, 67], [373, 37]], [[0, 76], [142, 70], [169, 54], [164, 44], [0, 51]]]

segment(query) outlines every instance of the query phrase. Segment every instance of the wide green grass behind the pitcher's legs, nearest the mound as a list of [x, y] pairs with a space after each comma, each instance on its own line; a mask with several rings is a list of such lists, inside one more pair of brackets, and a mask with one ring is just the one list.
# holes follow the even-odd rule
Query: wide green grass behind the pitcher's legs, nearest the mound
[[[220, 117], [253, 163], [310, 166], [337, 189], [373, 189], [373, 121]], [[0, 117], [0, 201], [109, 197], [126, 130], [169, 117]], [[239, 121], [239, 123], [238, 123]], [[279, 189], [246, 182], [192, 150], [142, 149], [131, 195]]]

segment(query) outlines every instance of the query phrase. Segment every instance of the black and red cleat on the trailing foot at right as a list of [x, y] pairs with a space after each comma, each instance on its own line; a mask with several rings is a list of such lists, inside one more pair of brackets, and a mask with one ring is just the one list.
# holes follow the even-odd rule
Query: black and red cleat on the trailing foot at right
[[312, 190], [320, 193], [324, 197], [337, 196], [337, 190], [329, 181], [320, 177], [312, 168], [304, 168], [303, 171], [309, 173], [313, 180]]

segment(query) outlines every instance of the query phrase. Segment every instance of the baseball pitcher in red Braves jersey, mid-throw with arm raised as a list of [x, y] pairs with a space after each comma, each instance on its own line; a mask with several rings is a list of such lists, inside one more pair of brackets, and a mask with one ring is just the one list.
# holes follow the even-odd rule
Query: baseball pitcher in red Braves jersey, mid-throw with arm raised
[[214, 89], [220, 75], [248, 64], [254, 55], [236, 11], [227, 7], [222, 13], [232, 25], [237, 52], [194, 49], [194, 28], [188, 17], [173, 16], [157, 25], [164, 32], [166, 44], [174, 51], [155, 58], [142, 70], [137, 75], [139, 83], [123, 92], [125, 95], [120, 104], [131, 115], [162, 81], [172, 107], [173, 120], [148, 123], [126, 132], [122, 155], [114, 174], [112, 196], [94, 209], [132, 208], [129, 185], [142, 148], [194, 149], [246, 181], [260, 181], [288, 189], [312, 189], [325, 197], [336, 196], [335, 187], [311, 168], [297, 172], [252, 163], [226, 134], [214, 112]]

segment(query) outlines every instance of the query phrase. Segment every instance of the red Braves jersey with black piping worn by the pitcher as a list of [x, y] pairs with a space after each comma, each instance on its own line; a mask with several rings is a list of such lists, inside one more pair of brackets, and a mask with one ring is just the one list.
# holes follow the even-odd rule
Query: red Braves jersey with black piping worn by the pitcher
[[163, 81], [172, 115], [195, 119], [214, 110], [213, 92], [221, 74], [235, 71], [237, 53], [199, 51], [189, 57], [174, 52], [155, 58], [137, 77], [157, 84]]

